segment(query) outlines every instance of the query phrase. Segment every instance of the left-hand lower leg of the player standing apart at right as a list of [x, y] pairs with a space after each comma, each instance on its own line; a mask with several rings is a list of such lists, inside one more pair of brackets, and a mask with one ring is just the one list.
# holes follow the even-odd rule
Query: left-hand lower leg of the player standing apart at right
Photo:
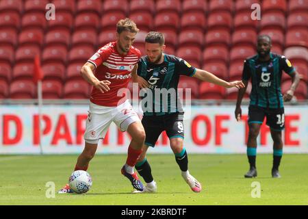
[[257, 177], [257, 168], [255, 166], [255, 159], [257, 157], [257, 137], [259, 136], [261, 124], [249, 124], [249, 133], [247, 141], [247, 157], [250, 164], [248, 172], [244, 175], [245, 178]]

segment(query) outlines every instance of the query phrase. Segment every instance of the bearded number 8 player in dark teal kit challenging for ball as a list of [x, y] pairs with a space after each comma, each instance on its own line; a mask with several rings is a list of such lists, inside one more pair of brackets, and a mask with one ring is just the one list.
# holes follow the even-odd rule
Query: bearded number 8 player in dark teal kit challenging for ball
[[[146, 159], [146, 151], [149, 146], [155, 146], [162, 131], [167, 133], [170, 147], [175, 153], [175, 160], [181, 169], [183, 179], [190, 185], [192, 191], [201, 192], [201, 183], [192, 177], [188, 171], [188, 155], [183, 146], [183, 109], [177, 94], [179, 76], [196, 77], [202, 81], [216, 83], [225, 88], [242, 88], [244, 84], [242, 81], [229, 83], [205, 70], [190, 66], [188, 62], [179, 57], [163, 53], [166, 47], [164, 45], [164, 35], [159, 32], [149, 32], [145, 42], [147, 55], [141, 57], [138, 63], [139, 76], [133, 75], [133, 81], [138, 81], [142, 88], [147, 88], [147, 94], [144, 95], [142, 101], [149, 94], [153, 96], [153, 101], [147, 103], [146, 109], [143, 109], [142, 125], [146, 132], [146, 140], [142, 148], [142, 154], [136, 164], [136, 169], [146, 181], [144, 192], [156, 192], [157, 190], [151, 174], [151, 166]], [[164, 91], [164, 94], [160, 93]]]

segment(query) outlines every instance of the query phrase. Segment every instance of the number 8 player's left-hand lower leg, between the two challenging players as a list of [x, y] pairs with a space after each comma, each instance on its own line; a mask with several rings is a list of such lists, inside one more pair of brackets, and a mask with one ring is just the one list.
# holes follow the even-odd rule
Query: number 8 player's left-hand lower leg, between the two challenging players
[[[149, 146], [147, 146], [146, 144], [142, 146], [142, 153], [138, 158], [136, 164], [136, 170], [138, 170], [140, 176], [146, 182], [146, 185], [144, 185], [144, 191], [142, 192], [157, 192], [157, 185], [152, 176], [151, 166], [148, 160], [146, 159], [146, 151], [148, 151], [148, 149]], [[140, 192], [140, 191], [135, 191], [135, 192]]]

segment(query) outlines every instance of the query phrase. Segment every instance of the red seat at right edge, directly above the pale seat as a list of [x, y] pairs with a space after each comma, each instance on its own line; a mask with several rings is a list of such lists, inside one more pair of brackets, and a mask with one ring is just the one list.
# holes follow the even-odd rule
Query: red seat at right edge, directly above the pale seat
[[308, 29], [292, 29], [287, 31], [285, 47], [308, 47]]

